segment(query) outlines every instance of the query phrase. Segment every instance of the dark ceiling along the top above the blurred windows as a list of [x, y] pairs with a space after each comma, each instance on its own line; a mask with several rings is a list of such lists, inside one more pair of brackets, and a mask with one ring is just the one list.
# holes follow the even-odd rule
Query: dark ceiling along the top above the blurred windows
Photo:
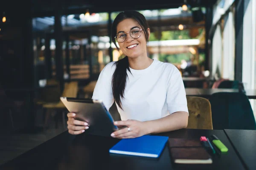
[[[216, 0], [186, 0], [193, 7], [212, 6]], [[4, 0], [0, 5], [0, 15], [44, 17], [53, 16], [56, 11], [61, 14], [90, 12], [123, 11], [128, 9], [145, 10], [159, 8], [177, 8], [184, 0]]]

